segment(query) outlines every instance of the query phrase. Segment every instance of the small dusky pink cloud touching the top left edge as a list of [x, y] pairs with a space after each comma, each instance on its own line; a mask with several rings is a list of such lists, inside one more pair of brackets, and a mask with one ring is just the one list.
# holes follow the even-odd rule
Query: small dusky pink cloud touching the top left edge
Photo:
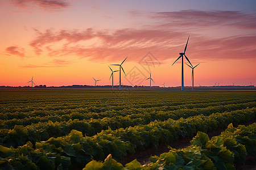
[[39, 6], [46, 11], [55, 11], [69, 7], [69, 3], [63, 0], [11, 0], [11, 4], [17, 7]]

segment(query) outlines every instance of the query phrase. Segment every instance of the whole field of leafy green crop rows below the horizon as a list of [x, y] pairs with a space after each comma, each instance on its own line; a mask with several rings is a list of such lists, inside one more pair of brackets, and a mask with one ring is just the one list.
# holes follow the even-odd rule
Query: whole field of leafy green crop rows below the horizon
[[[0, 169], [233, 169], [255, 158], [255, 117], [254, 91], [2, 90]], [[143, 167], [118, 163], [186, 137]]]

